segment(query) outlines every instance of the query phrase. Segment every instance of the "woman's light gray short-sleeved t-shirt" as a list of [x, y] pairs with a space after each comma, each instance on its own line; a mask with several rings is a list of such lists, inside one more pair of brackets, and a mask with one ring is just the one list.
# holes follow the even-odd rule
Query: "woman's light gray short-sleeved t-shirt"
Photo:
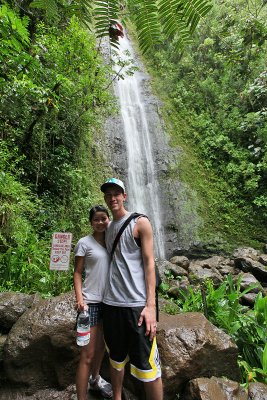
[[109, 269], [109, 254], [93, 236], [81, 238], [74, 249], [75, 256], [85, 257], [82, 294], [86, 303], [100, 303], [103, 300]]

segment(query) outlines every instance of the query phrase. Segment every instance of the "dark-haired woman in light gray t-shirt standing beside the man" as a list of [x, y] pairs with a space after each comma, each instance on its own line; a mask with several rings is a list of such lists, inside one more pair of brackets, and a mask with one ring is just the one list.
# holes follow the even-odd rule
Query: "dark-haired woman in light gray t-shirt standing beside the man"
[[[105, 247], [105, 230], [109, 224], [109, 214], [105, 207], [97, 205], [89, 212], [92, 235], [81, 238], [74, 249], [74, 289], [77, 309], [89, 309], [90, 342], [81, 347], [80, 361], [76, 373], [78, 400], [87, 400], [88, 379], [90, 390], [99, 391], [105, 398], [112, 397], [111, 384], [100, 375], [105, 346], [102, 331], [101, 301], [109, 268], [109, 255]], [[85, 279], [82, 280], [83, 272]]]

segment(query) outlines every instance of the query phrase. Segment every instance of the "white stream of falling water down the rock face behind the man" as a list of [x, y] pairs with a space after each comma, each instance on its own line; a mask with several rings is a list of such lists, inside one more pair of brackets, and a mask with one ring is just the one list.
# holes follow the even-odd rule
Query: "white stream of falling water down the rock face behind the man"
[[[127, 53], [132, 59], [136, 59], [131, 43], [125, 35], [123, 39], [120, 39], [120, 59], [125, 59]], [[155, 255], [158, 258], [164, 258], [159, 184], [151, 146], [153, 132], [149, 130], [140, 90], [143, 79], [144, 74], [140, 71], [136, 71], [133, 76], [124, 75], [124, 79], [116, 81], [115, 94], [120, 103], [127, 147], [129, 210], [144, 213], [149, 217], [154, 231]]]

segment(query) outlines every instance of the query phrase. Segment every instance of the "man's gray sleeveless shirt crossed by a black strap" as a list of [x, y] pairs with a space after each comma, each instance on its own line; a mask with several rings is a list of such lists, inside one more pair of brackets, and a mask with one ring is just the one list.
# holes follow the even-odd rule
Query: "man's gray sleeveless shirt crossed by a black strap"
[[[128, 217], [129, 214], [109, 224], [106, 231], [109, 253], [120, 227]], [[142, 252], [133, 236], [137, 219], [132, 219], [122, 233], [110, 264], [103, 302], [112, 306], [139, 307], [146, 304]]]

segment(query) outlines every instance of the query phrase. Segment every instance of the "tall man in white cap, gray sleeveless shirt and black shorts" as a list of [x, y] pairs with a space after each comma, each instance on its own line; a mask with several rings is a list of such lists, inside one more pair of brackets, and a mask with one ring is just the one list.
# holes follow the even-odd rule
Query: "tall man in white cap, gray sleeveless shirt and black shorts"
[[[131, 213], [124, 208], [125, 187], [116, 178], [101, 186], [113, 221], [106, 232], [107, 250]], [[104, 336], [111, 363], [113, 399], [122, 400], [124, 367], [144, 382], [147, 400], [162, 400], [162, 380], [156, 344], [156, 300], [153, 233], [149, 220], [132, 219], [112, 256], [104, 294]]]

